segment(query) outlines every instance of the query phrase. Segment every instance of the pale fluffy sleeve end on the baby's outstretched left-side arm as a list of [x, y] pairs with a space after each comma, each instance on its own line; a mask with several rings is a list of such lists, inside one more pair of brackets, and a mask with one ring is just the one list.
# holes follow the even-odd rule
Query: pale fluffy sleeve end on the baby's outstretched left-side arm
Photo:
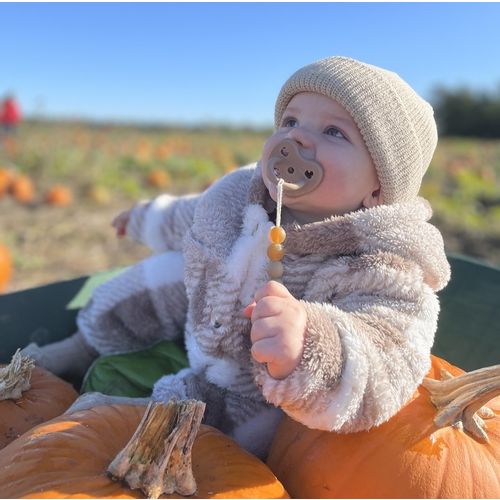
[[155, 253], [180, 250], [201, 195], [163, 194], [132, 208], [127, 234]]

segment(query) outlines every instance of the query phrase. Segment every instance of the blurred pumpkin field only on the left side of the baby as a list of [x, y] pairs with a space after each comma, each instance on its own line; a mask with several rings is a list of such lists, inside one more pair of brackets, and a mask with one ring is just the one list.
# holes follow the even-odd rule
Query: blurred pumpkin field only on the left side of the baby
[[69, 279], [149, 255], [117, 240], [113, 217], [163, 192], [206, 189], [255, 161], [267, 133], [24, 122], [15, 136], [0, 139], [0, 289]]

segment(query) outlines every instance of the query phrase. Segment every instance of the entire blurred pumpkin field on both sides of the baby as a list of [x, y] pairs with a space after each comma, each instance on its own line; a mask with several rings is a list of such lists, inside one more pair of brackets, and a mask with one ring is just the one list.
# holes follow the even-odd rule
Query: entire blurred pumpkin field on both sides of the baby
[[[269, 130], [26, 121], [0, 141], [3, 292], [137, 261], [113, 217], [163, 192], [206, 189], [258, 160]], [[500, 141], [442, 138], [421, 194], [448, 251], [500, 264]], [[3, 256], [7, 252], [2, 253]]]

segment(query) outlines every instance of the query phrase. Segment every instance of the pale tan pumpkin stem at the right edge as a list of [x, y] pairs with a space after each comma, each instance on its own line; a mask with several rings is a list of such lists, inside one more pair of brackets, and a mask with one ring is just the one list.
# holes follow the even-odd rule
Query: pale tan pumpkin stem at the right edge
[[488, 442], [483, 419], [492, 418], [495, 413], [483, 405], [500, 394], [500, 365], [458, 377], [448, 372], [441, 376], [443, 380], [425, 378], [422, 382], [438, 410], [434, 418], [436, 426], [462, 426], [479, 441]]

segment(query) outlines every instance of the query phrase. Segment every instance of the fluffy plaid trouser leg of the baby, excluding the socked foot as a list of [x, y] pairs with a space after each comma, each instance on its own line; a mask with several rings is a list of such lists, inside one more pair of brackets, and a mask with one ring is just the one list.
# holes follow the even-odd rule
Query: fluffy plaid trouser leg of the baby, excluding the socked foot
[[99, 354], [121, 354], [180, 336], [186, 313], [183, 257], [166, 252], [96, 288], [77, 324]]

